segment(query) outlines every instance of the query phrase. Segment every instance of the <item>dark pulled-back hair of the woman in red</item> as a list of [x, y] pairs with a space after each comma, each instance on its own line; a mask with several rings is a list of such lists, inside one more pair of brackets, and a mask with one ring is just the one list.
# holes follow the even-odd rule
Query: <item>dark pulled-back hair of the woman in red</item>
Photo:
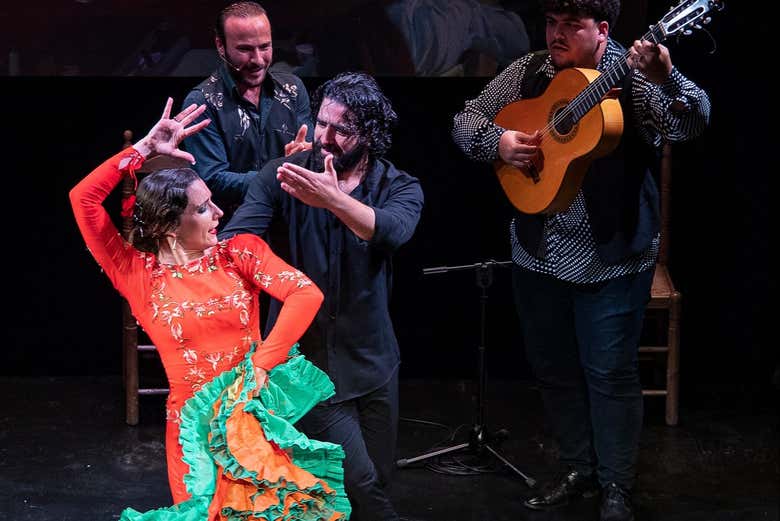
[[158, 170], [144, 177], [135, 192], [130, 244], [156, 255], [160, 240], [181, 222], [189, 203], [187, 188], [197, 179], [191, 168]]

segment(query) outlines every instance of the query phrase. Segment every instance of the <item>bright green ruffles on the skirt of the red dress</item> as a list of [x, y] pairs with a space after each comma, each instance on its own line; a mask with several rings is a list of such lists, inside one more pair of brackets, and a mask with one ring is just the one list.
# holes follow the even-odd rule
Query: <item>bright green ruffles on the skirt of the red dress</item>
[[[298, 353], [296, 344], [290, 350], [288, 360], [268, 373], [267, 385], [260, 389], [259, 397], [254, 398], [253, 353], [254, 348], [240, 364], [206, 384], [182, 408], [179, 441], [184, 461], [190, 467], [184, 483], [191, 498], [172, 507], [145, 513], [128, 508], [120, 521], [206, 520], [217, 492], [218, 473], [232, 481], [251, 484], [250, 497], [276, 496], [270, 501], [264, 496], [264, 503], [272, 504], [262, 511], [219, 505], [224, 519], [319, 521], [349, 518], [351, 507], [344, 492], [343, 449], [334, 443], [311, 440], [293, 426], [317, 403], [334, 394], [333, 383]], [[215, 404], [218, 404], [216, 410]], [[282, 476], [272, 482], [261, 477], [265, 469], [242, 466], [231, 454], [227, 440], [231, 415], [242, 412], [249, 413], [259, 422], [268, 442], [291, 454], [293, 465], [318, 479], [307, 480], [309, 485], [301, 487], [294, 479]]]

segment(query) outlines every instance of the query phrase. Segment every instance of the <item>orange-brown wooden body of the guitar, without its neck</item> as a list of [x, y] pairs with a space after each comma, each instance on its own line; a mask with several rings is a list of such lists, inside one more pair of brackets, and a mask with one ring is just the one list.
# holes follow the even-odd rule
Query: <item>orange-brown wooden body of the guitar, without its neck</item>
[[616, 99], [600, 101], [573, 125], [553, 124], [554, 116], [598, 76], [593, 69], [564, 69], [541, 96], [510, 103], [496, 115], [495, 123], [507, 130], [532, 134], [548, 128], [530, 171], [501, 160], [495, 163], [504, 193], [521, 212], [549, 214], [568, 208], [590, 163], [620, 141], [623, 111]]

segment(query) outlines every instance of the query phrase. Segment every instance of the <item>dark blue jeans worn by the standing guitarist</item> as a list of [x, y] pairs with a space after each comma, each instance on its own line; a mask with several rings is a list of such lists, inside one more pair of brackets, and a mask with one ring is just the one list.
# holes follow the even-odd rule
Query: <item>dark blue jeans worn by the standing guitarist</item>
[[574, 284], [514, 267], [526, 355], [562, 464], [631, 489], [642, 430], [638, 347], [653, 270]]

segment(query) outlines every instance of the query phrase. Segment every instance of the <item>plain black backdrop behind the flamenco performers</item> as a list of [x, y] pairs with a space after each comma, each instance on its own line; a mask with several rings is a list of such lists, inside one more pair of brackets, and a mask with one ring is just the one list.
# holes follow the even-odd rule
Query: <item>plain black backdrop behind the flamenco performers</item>
[[[625, 6], [627, 25], [637, 31], [623, 32], [639, 36], [666, 4]], [[749, 61], [768, 40], [768, 17], [754, 15], [732, 0], [714, 16], [714, 41], [696, 33], [668, 42], [675, 64], [713, 103], [706, 133], [673, 152], [671, 271], [683, 294], [683, 407], [713, 399], [750, 405], [776, 392], [777, 342], [768, 307], [776, 292], [769, 251], [776, 167], [771, 103], [764, 102], [771, 100], [772, 82]], [[272, 22], [276, 28], [279, 21]], [[39, 27], [17, 30], [32, 39]], [[101, 45], [111, 48], [110, 42]], [[124, 129], [145, 132], [167, 96], [180, 103], [201, 79], [34, 71], [0, 77], [7, 230], [0, 374], [119, 374], [120, 299], [84, 247], [68, 190], [120, 148]], [[510, 206], [491, 168], [467, 160], [449, 135], [452, 116], [488, 78], [378, 80], [401, 119], [390, 159], [419, 177], [426, 195], [417, 233], [396, 258], [393, 314], [401, 376], [471, 378], [479, 333], [474, 273], [422, 270], [509, 259]], [[322, 80], [305, 81], [313, 89]], [[108, 205], [118, 213], [118, 200]], [[527, 378], [509, 281], [508, 270], [499, 269], [489, 292], [488, 369], [494, 376]]]

